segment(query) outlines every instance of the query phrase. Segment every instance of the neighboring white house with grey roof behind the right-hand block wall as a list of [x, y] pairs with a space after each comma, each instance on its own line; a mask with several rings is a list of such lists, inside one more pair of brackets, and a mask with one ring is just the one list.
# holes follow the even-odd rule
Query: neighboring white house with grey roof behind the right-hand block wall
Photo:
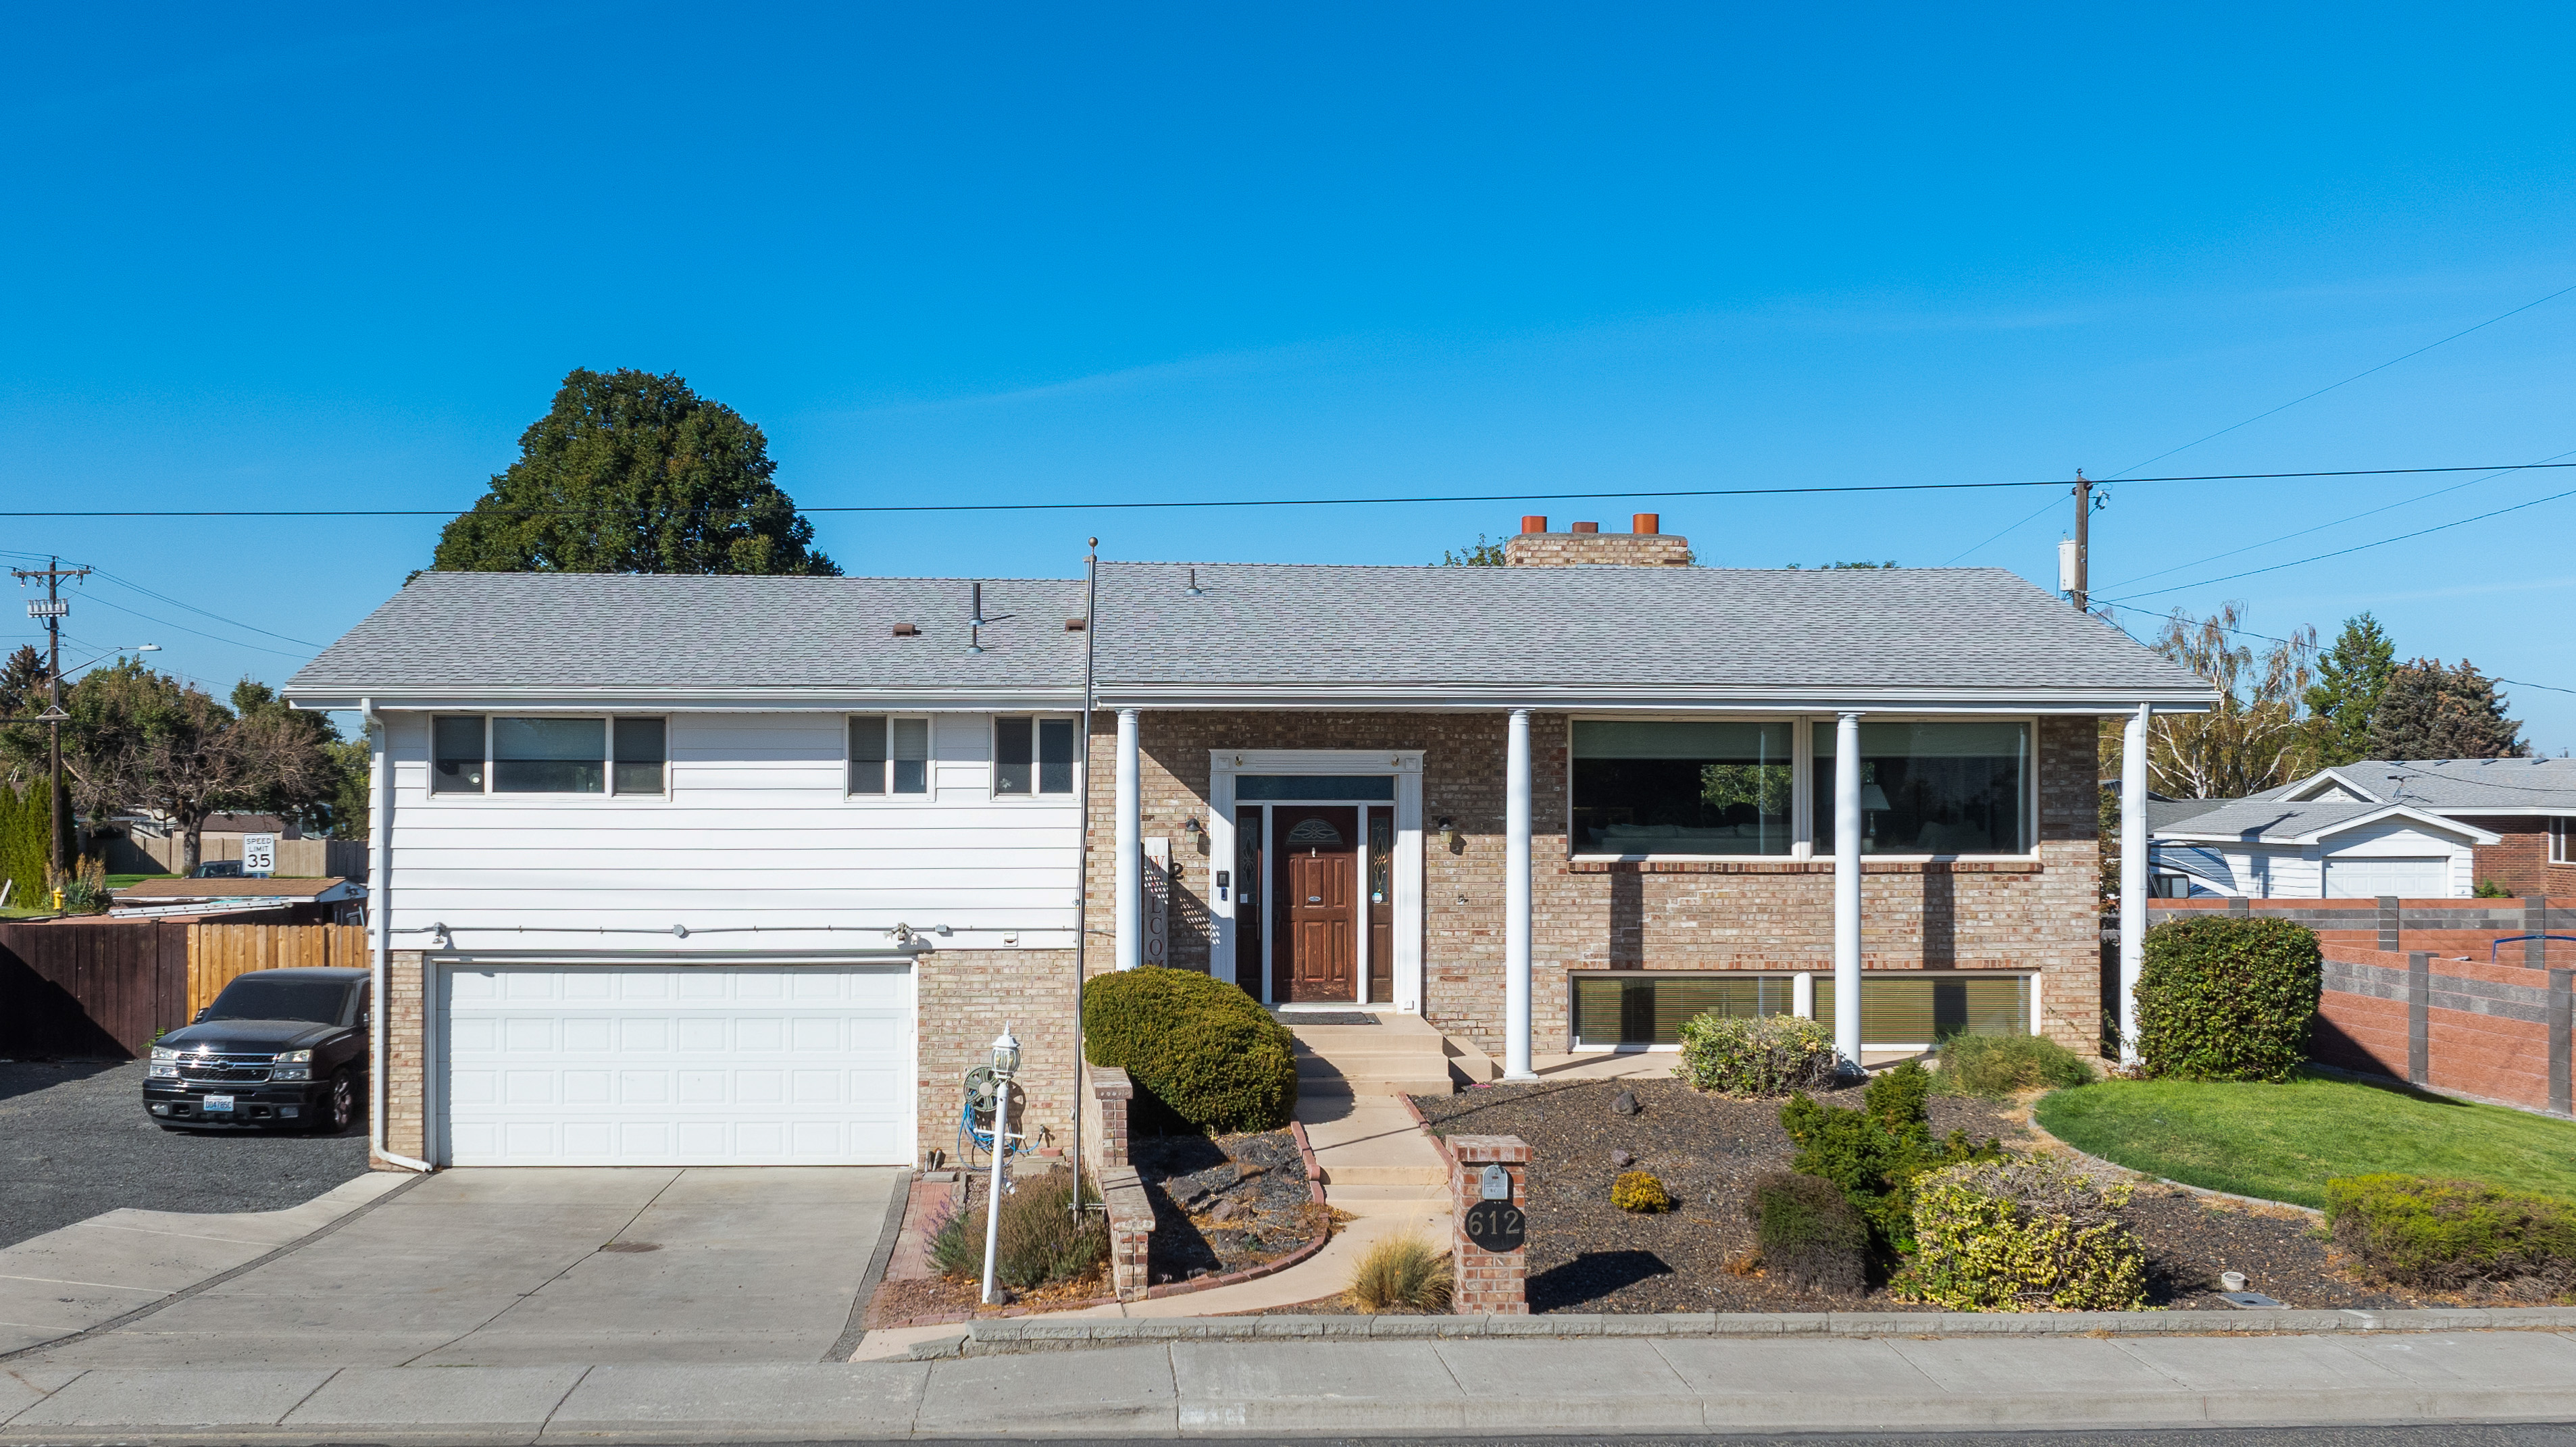
[[2164, 899], [2576, 893], [2576, 760], [2365, 760], [2148, 819]]

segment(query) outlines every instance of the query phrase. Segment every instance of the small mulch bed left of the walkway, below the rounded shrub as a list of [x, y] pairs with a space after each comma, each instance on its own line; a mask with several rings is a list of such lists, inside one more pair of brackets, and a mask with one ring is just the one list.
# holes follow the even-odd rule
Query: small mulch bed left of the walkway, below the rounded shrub
[[1260, 1267], [1327, 1228], [1288, 1130], [1144, 1135], [1128, 1161], [1154, 1205], [1154, 1285]]

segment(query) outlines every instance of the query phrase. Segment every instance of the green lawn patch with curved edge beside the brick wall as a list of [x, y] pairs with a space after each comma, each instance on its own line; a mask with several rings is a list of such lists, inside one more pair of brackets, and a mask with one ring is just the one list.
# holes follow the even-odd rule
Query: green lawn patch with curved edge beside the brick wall
[[2576, 1200], [2576, 1123], [2334, 1076], [2102, 1081], [2040, 1099], [2058, 1141], [2164, 1179], [2326, 1205], [2326, 1177], [2403, 1172]]

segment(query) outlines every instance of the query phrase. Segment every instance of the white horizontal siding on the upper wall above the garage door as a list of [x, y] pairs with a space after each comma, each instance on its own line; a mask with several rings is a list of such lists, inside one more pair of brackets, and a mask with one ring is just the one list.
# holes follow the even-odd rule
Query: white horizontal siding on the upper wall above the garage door
[[[657, 716], [659, 718], [659, 716]], [[992, 716], [925, 716], [930, 788], [845, 790], [842, 713], [670, 713], [649, 801], [428, 793], [428, 716], [394, 716], [392, 924], [448, 924], [461, 950], [531, 927], [528, 950], [876, 950], [894, 924], [943, 950], [1072, 948], [1079, 796], [992, 798]], [[832, 924], [835, 932], [768, 929]], [[484, 932], [477, 932], [484, 927]], [[536, 927], [556, 932], [538, 935]], [[582, 940], [564, 929], [652, 929]], [[397, 948], [417, 948], [397, 940]]]

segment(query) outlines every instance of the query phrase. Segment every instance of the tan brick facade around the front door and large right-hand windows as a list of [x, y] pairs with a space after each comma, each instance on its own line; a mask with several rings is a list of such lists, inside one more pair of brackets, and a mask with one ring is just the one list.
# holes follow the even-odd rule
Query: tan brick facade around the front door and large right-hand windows
[[[1115, 968], [1115, 716], [1092, 721], [1092, 971]], [[1579, 968], [1829, 971], [1832, 860], [1592, 863], [1566, 850], [1569, 729], [1530, 716], [1533, 893], [1530, 1035], [1571, 1048]], [[1432, 1025], [1502, 1050], [1502, 765], [1504, 713], [1157, 713], [1139, 716], [1144, 834], [1172, 839], [1170, 950], [1208, 968], [1208, 875], [1185, 821], [1208, 819], [1211, 749], [1422, 749], [1422, 1009]], [[1862, 968], [2040, 971], [2045, 1032], [2099, 1045], [2097, 765], [2092, 718], [2038, 726], [2035, 860], [1870, 863], [1862, 870]], [[1458, 826], [1443, 847], [1437, 821]]]

